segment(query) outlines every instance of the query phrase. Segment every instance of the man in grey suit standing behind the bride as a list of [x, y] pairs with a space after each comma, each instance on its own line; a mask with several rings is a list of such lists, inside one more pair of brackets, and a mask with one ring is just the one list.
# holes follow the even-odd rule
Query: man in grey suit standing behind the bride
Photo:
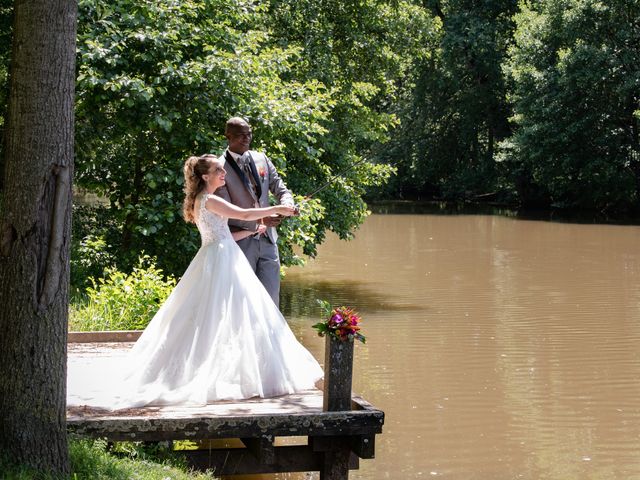
[[[262, 152], [249, 150], [253, 133], [251, 126], [240, 117], [227, 121], [224, 132], [228, 148], [224, 152], [226, 184], [216, 190], [216, 195], [242, 208], [268, 207], [269, 192], [281, 205], [293, 205], [291, 192], [278, 175], [273, 163]], [[278, 234], [275, 227], [278, 217], [266, 217], [259, 222], [229, 219], [232, 232], [249, 230], [254, 235], [238, 241], [238, 246], [249, 260], [276, 306], [280, 304], [280, 257]], [[267, 228], [260, 229], [260, 224]], [[260, 229], [260, 231], [259, 231]]]

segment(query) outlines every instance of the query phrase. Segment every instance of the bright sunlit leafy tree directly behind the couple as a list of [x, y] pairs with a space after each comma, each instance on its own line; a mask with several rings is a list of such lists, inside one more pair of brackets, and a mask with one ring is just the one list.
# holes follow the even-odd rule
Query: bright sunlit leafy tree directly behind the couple
[[[254, 148], [302, 194], [350, 166], [357, 142], [381, 138], [392, 122], [372, 109], [378, 87], [299, 75], [312, 52], [274, 41], [266, 5], [82, 0], [79, 7], [76, 182], [108, 197], [119, 235], [106, 242], [124, 270], [144, 249], [166, 271], [184, 271], [199, 238], [180, 219], [182, 165], [192, 154], [221, 153], [228, 117], [250, 120]], [[302, 244], [313, 252], [309, 242], [326, 229], [348, 236], [366, 215], [359, 184], [389, 174], [383, 166], [354, 169], [338, 186], [343, 200], [328, 201], [323, 217], [313, 214], [316, 233], [292, 230], [285, 251]]]

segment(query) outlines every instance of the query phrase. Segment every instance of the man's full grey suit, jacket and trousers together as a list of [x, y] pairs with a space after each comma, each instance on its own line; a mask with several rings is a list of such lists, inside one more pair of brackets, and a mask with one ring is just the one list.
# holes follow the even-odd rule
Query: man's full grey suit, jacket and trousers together
[[[276, 168], [264, 153], [249, 150], [238, 160], [227, 149], [223, 155], [225, 161], [226, 184], [216, 190], [216, 195], [242, 208], [268, 207], [269, 192], [281, 205], [293, 205], [293, 197]], [[244, 162], [250, 162], [249, 171], [253, 182], [243, 168]], [[232, 163], [233, 162], [233, 163]], [[253, 167], [251, 167], [253, 163]], [[229, 219], [231, 231], [249, 230], [255, 232], [259, 222]], [[278, 255], [278, 234], [274, 227], [268, 227], [266, 235], [251, 236], [238, 241], [276, 305], [280, 303], [280, 257]]]

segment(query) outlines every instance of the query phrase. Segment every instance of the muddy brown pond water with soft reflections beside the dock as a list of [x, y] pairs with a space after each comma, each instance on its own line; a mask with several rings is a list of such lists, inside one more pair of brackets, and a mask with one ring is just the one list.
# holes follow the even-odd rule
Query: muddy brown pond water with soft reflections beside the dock
[[[354, 479], [640, 479], [640, 227], [372, 215], [283, 283], [355, 306], [354, 390], [387, 415]], [[284, 476], [280, 478], [307, 478]]]

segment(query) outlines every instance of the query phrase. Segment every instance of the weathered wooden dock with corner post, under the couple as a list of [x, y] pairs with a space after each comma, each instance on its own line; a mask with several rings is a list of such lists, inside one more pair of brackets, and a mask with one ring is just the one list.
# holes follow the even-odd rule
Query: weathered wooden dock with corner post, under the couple
[[[118, 341], [122, 339], [118, 335], [128, 336], [128, 341]], [[70, 335], [69, 357], [121, 355], [135, 338], [129, 332]], [[191, 440], [200, 448], [181, 453], [193, 467], [212, 469], [217, 475], [319, 471], [323, 480], [347, 479], [360, 459], [374, 458], [384, 412], [351, 394], [350, 365], [345, 378], [344, 368], [331, 368], [331, 355], [338, 355], [344, 365], [344, 352], [327, 347], [324, 391], [198, 407], [150, 406], [115, 412], [70, 407], [67, 428], [111, 442]], [[331, 399], [325, 392], [331, 393]]]

